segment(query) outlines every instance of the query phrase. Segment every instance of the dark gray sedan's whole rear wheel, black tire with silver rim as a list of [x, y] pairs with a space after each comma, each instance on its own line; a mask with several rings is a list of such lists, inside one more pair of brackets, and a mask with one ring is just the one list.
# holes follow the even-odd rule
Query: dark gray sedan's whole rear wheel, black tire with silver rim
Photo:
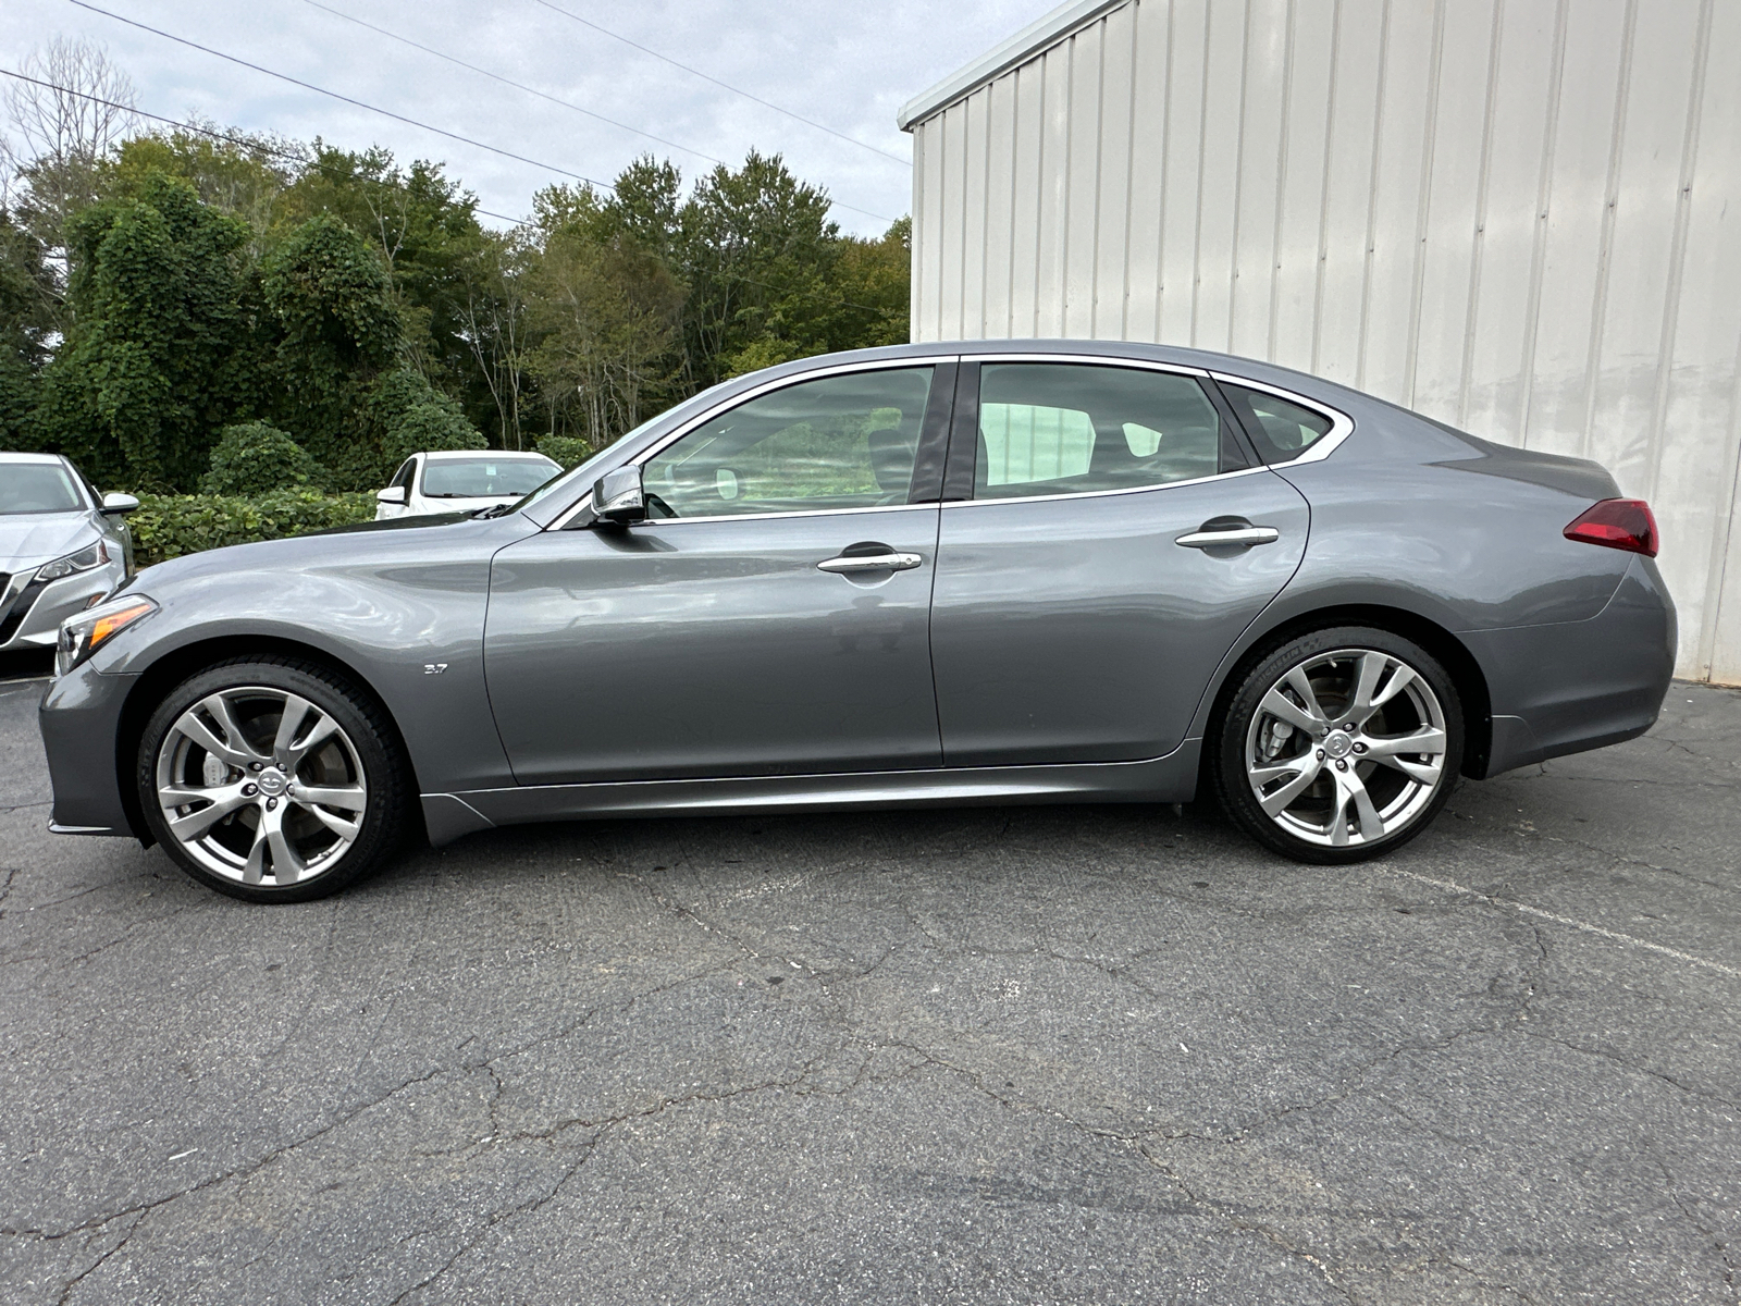
[[1332, 627], [1240, 677], [1213, 735], [1210, 782], [1266, 848], [1341, 865], [1421, 834], [1461, 766], [1462, 703], [1438, 660], [1389, 630]]

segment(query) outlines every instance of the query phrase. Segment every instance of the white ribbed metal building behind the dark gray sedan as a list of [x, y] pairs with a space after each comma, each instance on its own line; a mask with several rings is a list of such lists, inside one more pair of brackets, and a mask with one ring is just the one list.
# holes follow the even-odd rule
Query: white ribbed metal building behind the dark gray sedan
[[1227, 350], [1649, 498], [1741, 683], [1741, 0], [1074, 0], [911, 101], [914, 340]]

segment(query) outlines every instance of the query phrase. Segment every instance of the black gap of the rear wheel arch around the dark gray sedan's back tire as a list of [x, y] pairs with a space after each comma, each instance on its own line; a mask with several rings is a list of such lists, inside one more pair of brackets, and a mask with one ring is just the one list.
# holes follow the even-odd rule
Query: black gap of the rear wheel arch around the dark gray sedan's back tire
[[1254, 627], [1252, 632], [1247, 632], [1243, 648], [1227, 658], [1220, 679], [1207, 697], [1208, 712], [1203, 721], [1205, 747], [1201, 766], [1207, 766], [1215, 756], [1213, 740], [1220, 737], [1227, 702], [1238, 691], [1245, 672], [1290, 639], [1335, 625], [1370, 625], [1379, 630], [1389, 630], [1403, 639], [1412, 639], [1438, 658], [1462, 703], [1464, 745], [1461, 771], [1473, 780], [1487, 775], [1487, 761], [1494, 742], [1494, 719], [1492, 697], [1482, 663], [1476, 662], [1469, 648], [1447, 627], [1421, 613], [1382, 603], [1344, 603], [1313, 608], [1311, 611], [1281, 616], [1273, 625]]

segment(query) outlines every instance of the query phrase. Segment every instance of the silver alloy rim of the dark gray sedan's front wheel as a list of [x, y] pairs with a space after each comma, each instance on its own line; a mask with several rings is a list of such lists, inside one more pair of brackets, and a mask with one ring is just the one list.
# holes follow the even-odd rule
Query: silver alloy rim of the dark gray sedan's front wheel
[[362, 831], [369, 791], [350, 735], [287, 690], [219, 690], [157, 751], [164, 824], [202, 867], [287, 888], [331, 871]]

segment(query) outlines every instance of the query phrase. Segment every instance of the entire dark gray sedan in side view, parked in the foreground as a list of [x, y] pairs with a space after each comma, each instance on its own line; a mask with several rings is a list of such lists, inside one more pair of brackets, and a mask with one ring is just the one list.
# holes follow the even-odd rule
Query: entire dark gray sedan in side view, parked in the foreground
[[63, 629], [52, 820], [259, 902], [630, 813], [1213, 794], [1348, 862], [1656, 721], [1656, 547], [1595, 463], [1259, 362], [810, 359], [505, 508], [141, 573]]

